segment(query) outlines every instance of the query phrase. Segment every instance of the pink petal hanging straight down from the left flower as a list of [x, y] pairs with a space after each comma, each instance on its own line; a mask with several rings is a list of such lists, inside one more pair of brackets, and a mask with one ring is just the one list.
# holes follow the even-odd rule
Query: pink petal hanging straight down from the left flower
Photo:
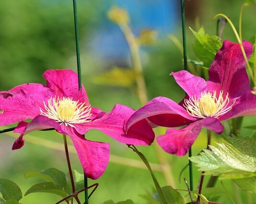
[[64, 134], [70, 136], [87, 178], [97, 179], [104, 172], [109, 161], [109, 144], [85, 140], [74, 128], [65, 127]]

